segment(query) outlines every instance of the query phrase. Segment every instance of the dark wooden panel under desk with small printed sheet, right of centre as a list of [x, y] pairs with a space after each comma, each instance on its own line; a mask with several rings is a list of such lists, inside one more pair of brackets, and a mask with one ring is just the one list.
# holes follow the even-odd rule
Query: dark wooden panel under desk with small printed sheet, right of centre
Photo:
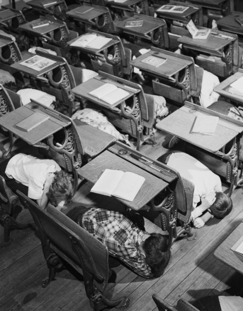
[[167, 86], [158, 81], [153, 80], [153, 89], [155, 94], [161, 95], [178, 103], [183, 103], [183, 91], [173, 86]]

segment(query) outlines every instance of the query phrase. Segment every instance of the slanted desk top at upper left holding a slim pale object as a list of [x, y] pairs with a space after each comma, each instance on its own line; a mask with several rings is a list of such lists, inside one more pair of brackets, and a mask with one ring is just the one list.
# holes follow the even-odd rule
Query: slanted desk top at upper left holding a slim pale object
[[[48, 25], [46, 26], [41, 26], [41, 27], [37, 27], [37, 28], [33, 28], [32, 24], [35, 23], [48, 23]], [[44, 35], [47, 33], [50, 33], [56, 29], [59, 29], [60, 27], [66, 27], [66, 24], [61, 21], [61, 20], [54, 20], [52, 18], [38, 18], [35, 20], [32, 20], [28, 23], [22, 24], [19, 26], [19, 29], [24, 30], [28, 33], [34, 34], [34, 35]], [[51, 39], [51, 38], [50, 38]]]

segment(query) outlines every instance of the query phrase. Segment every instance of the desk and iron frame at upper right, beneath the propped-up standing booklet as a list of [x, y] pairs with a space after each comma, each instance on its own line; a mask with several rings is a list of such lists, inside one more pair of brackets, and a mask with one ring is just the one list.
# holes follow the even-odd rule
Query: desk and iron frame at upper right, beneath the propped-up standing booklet
[[[203, 62], [210, 62], [208, 71], [211, 71], [215, 75], [220, 75], [222, 77], [232, 74], [235, 68], [239, 68], [239, 45], [238, 36], [234, 34], [229, 34], [219, 30], [211, 30], [207, 39], [193, 39], [191, 35], [184, 35], [178, 38], [178, 42], [192, 51], [207, 53], [211, 56], [220, 57], [222, 62], [225, 63], [226, 69], [221, 74], [218, 73], [218, 69], [210, 70], [212, 65], [217, 65], [216, 62], [210, 62], [205, 58], [196, 57], [196, 63], [199, 66], [204, 67]], [[228, 54], [225, 54], [224, 50], [228, 47]], [[210, 66], [211, 64], [211, 66]]]

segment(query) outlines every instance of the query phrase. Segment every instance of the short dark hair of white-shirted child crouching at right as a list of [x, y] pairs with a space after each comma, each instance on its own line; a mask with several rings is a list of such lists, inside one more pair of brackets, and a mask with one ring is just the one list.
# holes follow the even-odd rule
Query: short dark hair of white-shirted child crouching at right
[[228, 215], [233, 207], [231, 198], [224, 192], [216, 192], [216, 200], [210, 206], [211, 214], [219, 219]]

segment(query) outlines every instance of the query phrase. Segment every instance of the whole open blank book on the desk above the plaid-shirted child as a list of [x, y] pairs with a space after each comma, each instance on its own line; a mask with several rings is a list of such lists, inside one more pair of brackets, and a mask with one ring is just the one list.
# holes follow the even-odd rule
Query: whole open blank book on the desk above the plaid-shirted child
[[144, 181], [144, 177], [132, 172], [105, 169], [90, 191], [132, 202]]

